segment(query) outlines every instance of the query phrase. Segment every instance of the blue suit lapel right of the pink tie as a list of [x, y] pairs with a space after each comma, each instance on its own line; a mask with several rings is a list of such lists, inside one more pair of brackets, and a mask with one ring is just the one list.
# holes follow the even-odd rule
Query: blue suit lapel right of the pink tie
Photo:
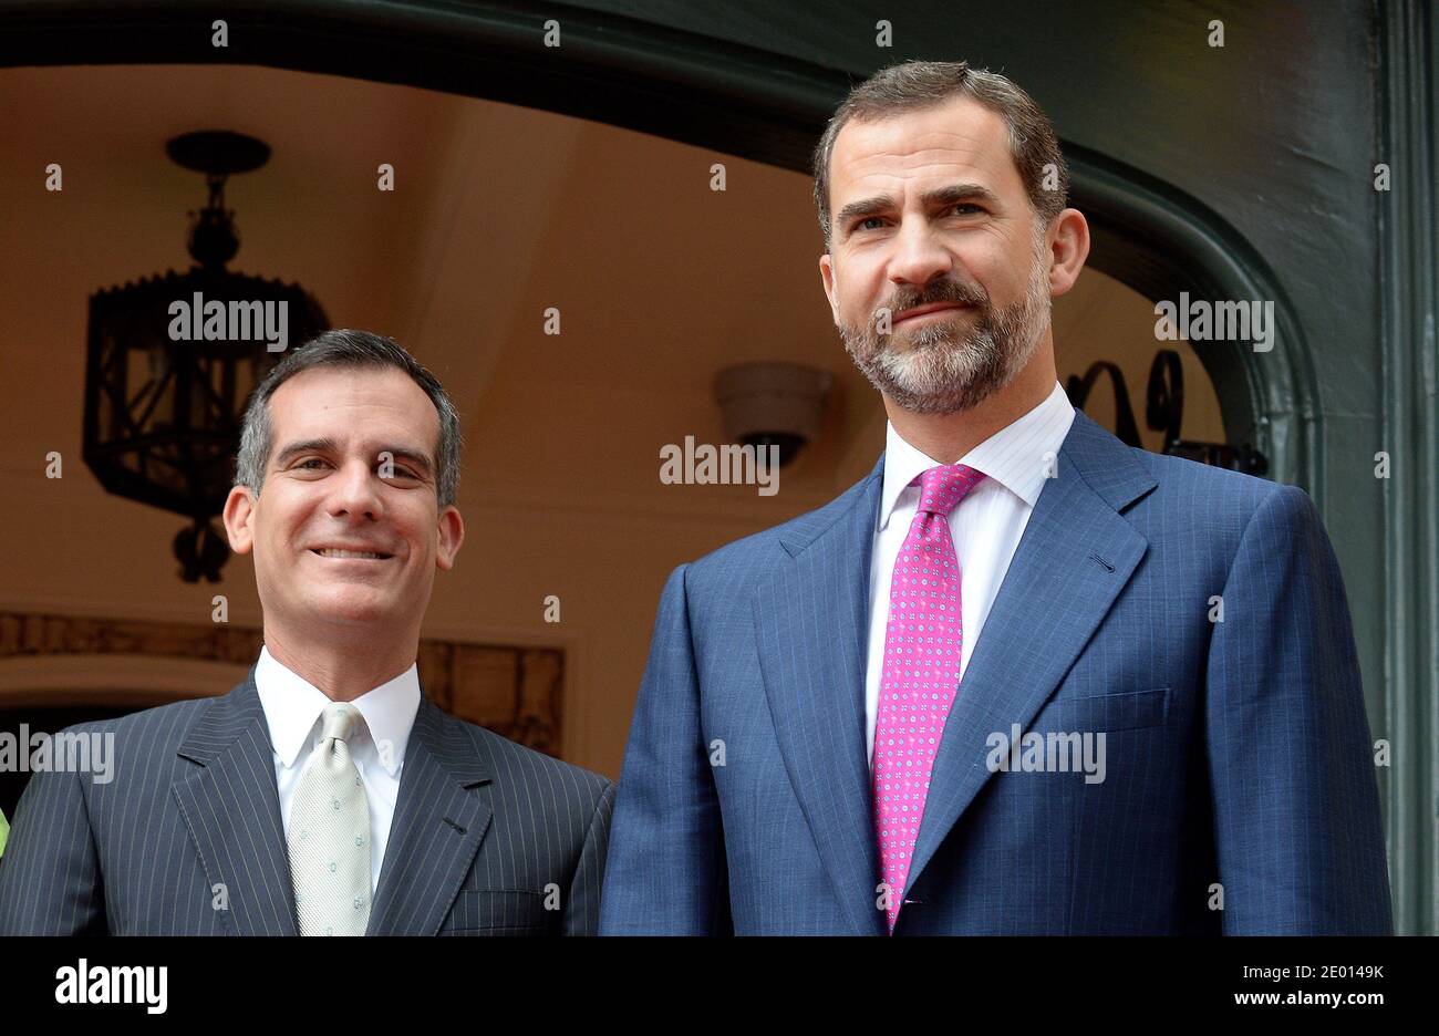
[[1154, 486], [1128, 446], [1075, 413], [945, 721], [909, 888], [991, 777], [987, 738], [1027, 728], [1130, 581], [1148, 541], [1120, 511]]

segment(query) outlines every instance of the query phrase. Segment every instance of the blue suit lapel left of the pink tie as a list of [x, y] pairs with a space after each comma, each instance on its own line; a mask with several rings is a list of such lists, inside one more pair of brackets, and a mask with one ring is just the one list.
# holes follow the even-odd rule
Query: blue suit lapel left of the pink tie
[[869, 478], [783, 537], [790, 555], [754, 597], [760, 666], [794, 793], [861, 934], [875, 909], [878, 849], [865, 751], [869, 558], [884, 458]]

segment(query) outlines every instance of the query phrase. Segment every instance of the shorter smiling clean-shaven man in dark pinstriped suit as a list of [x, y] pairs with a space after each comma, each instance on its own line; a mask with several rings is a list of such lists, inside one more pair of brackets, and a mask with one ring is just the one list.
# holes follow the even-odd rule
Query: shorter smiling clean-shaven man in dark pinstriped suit
[[613, 786], [420, 688], [465, 538], [459, 416], [389, 338], [328, 331], [245, 416], [230, 545], [265, 646], [222, 698], [137, 712], [106, 784], [32, 777], [0, 934], [589, 934]]

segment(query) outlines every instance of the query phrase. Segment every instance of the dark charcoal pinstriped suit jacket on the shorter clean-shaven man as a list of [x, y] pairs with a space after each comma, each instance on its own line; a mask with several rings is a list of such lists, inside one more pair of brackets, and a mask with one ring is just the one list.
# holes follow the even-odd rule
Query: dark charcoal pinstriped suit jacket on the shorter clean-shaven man
[[[114, 778], [30, 778], [0, 856], [0, 934], [298, 932], [253, 669], [220, 698], [72, 730], [115, 734]], [[613, 797], [422, 696], [367, 934], [593, 934]]]

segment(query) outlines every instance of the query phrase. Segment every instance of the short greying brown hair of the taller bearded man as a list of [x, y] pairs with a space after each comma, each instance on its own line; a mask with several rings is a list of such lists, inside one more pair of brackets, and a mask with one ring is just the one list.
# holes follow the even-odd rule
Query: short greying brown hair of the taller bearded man
[[[881, 69], [855, 86], [835, 111], [814, 148], [814, 204], [825, 232], [825, 250], [830, 249], [829, 163], [839, 131], [850, 119], [869, 122], [886, 115], [932, 108], [951, 96], [964, 95], [996, 112], [1009, 127], [1009, 153], [1025, 183], [1029, 203], [1049, 226], [1063, 212], [1069, 199], [1069, 170], [1059, 153], [1059, 138], [1049, 118], [1035, 99], [1012, 81], [986, 69], [971, 69], [967, 62], [908, 60]], [[1045, 190], [1046, 165], [1056, 171], [1056, 188]]]

